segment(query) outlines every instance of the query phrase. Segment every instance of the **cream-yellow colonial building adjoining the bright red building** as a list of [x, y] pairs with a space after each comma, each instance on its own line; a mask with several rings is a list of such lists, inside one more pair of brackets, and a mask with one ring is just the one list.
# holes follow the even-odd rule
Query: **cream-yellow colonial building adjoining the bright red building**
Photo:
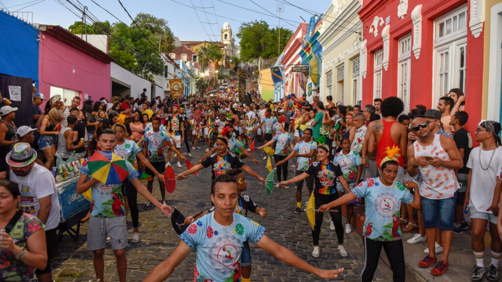
[[319, 95], [323, 102], [326, 102], [326, 96], [331, 95], [334, 103], [361, 103], [359, 41], [362, 37], [362, 23], [357, 14], [361, 9], [360, 2], [332, 0], [322, 16], [319, 43], [323, 51]]

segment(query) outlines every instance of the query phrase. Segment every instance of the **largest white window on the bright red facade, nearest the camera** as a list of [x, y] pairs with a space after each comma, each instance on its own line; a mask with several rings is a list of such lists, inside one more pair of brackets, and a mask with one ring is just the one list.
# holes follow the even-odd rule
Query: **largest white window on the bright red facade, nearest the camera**
[[433, 104], [450, 91], [465, 91], [467, 60], [467, 6], [464, 5], [434, 22]]

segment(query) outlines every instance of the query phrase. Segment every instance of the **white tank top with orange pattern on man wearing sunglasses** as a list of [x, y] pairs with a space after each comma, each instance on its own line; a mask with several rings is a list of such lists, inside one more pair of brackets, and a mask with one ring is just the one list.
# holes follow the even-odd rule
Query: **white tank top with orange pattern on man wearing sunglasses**
[[[434, 135], [434, 142], [429, 146], [421, 146], [418, 141], [413, 144], [415, 159], [418, 157], [438, 157], [443, 161], [451, 161], [450, 156], [441, 147], [439, 134]], [[447, 199], [455, 195], [459, 189], [455, 171], [445, 167], [435, 168], [432, 165], [423, 165], [419, 168], [422, 182], [420, 183], [420, 196], [428, 199]]]

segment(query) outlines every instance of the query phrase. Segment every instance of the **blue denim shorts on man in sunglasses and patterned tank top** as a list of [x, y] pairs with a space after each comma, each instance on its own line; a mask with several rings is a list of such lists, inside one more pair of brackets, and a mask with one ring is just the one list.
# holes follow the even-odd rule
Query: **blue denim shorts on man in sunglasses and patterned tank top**
[[457, 193], [451, 198], [441, 200], [421, 198], [425, 228], [439, 227], [442, 230], [453, 230]]

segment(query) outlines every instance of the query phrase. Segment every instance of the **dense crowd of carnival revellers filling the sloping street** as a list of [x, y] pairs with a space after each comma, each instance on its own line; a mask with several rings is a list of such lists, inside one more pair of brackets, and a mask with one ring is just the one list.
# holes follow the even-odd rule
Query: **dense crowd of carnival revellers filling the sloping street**
[[[19, 128], [14, 123], [18, 109], [3, 105], [0, 171], [5, 173], [0, 173], [0, 179], [8, 180], [0, 181], [0, 202], [5, 203], [0, 205], [0, 229], [6, 231], [0, 231], [0, 248], [11, 264], [0, 277], [32, 281], [36, 272], [40, 281], [52, 280], [50, 259], [56, 249], [59, 203], [50, 170], [57, 158], [88, 159], [96, 150], [111, 151], [126, 160], [129, 173], [123, 183], [106, 185], [91, 176], [85, 162], [79, 170], [76, 192], [92, 192], [87, 249], [94, 253], [99, 280], [104, 280], [103, 254], [109, 237], [119, 279], [126, 281], [127, 229], [134, 228], [132, 243], [140, 241], [137, 194], [148, 200], [146, 209], [155, 206], [170, 215], [165, 169], [181, 168], [181, 161], [192, 157], [195, 150], [204, 150], [205, 156], [194, 160], [195, 166], [176, 178], [183, 180], [210, 167], [208, 204], [213, 207], [187, 217], [182, 241], [145, 281], [165, 279], [192, 249], [197, 249], [194, 280], [249, 281], [248, 241], [295, 267], [320, 277], [335, 277], [342, 269], [311, 266], [268, 238], [262, 225], [245, 220], [248, 210], [263, 217], [267, 210], [249, 195], [241, 195], [246, 191], [246, 175], [265, 182], [264, 176], [242, 160], [262, 165], [259, 160], [267, 160], [265, 152], [271, 150], [275, 186], [296, 186], [291, 212], [305, 211], [304, 183], [309, 197], [314, 197], [313, 257], [321, 253], [319, 237], [326, 211], [340, 256], [350, 255], [343, 245], [344, 234], [352, 232], [352, 224], [359, 220], [353, 216], [354, 207], [364, 205], [362, 281], [372, 280], [382, 247], [394, 281], [405, 281], [402, 232], [415, 228], [418, 233], [407, 243], [427, 243], [426, 256], [418, 265], [432, 265], [432, 275], [442, 275], [448, 269], [453, 233], [470, 228], [475, 260], [471, 279], [480, 281], [485, 274], [489, 281], [499, 279], [501, 127], [495, 121], [481, 122], [475, 129], [475, 140], [482, 146], [473, 148], [472, 137], [464, 128], [469, 116], [460, 89], [441, 97], [435, 108], [417, 105], [407, 114], [403, 114], [405, 107], [398, 97], [376, 98], [373, 104], [361, 107], [334, 103], [331, 96], [321, 101], [319, 93], [312, 102], [306, 94], [287, 95], [278, 102], [264, 101], [257, 91], [248, 93], [245, 101], [238, 101], [235, 95], [228, 91], [211, 97], [149, 100], [145, 89], [139, 98], [112, 97], [110, 101], [82, 101], [76, 96], [66, 106], [59, 96], [46, 99], [34, 91], [33, 124]], [[260, 142], [256, 151], [255, 142]], [[292, 159], [294, 165], [290, 166]], [[291, 167], [294, 176], [289, 174]], [[150, 176], [147, 187], [139, 181], [142, 173]], [[155, 177], [160, 201], [152, 196]], [[491, 262], [485, 267], [487, 224]], [[16, 232], [23, 226], [29, 228]], [[217, 232], [209, 236], [209, 229]], [[217, 239], [223, 236], [234, 243], [234, 249], [224, 250], [225, 255], [215, 249], [221, 243]], [[232, 257], [232, 252], [238, 257]]]

